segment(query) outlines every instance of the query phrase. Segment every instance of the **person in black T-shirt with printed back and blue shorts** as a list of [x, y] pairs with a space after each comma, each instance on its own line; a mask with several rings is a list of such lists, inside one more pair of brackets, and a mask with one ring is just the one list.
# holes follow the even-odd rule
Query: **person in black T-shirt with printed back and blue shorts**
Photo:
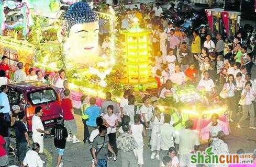
[[68, 130], [64, 126], [62, 117], [57, 119], [57, 125], [51, 129], [51, 135], [54, 136], [54, 146], [57, 148], [58, 153], [57, 167], [62, 167], [63, 162], [61, 162], [61, 159], [65, 151], [66, 137], [68, 137]]

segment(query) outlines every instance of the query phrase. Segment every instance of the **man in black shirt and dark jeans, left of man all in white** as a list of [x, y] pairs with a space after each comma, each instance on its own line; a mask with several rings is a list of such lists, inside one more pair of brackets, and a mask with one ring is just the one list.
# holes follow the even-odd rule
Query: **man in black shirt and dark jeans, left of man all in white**
[[29, 136], [28, 136], [28, 126], [25, 123], [26, 117], [24, 112], [19, 112], [19, 121], [14, 123], [15, 136], [16, 136], [16, 149], [17, 157], [20, 164], [23, 164], [28, 148], [30, 147]]

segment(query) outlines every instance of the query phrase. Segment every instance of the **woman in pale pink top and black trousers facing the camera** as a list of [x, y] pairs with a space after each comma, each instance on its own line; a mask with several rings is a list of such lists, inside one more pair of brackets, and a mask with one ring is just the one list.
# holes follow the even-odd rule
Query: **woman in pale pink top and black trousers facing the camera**
[[[118, 118], [113, 113], [114, 106], [108, 105], [107, 106], [107, 113], [103, 116], [104, 120], [108, 123], [108, 125], [111, 127], [111, 132], [108, 134], [109, 138], [109, 144], [113, 147], [113, 150], [115, 153], [117, 153], [117, 147], [116, 147], [116, 127], [118, 126]], [[112, 153], [108, 152], [108, 157], [112, 157]]]

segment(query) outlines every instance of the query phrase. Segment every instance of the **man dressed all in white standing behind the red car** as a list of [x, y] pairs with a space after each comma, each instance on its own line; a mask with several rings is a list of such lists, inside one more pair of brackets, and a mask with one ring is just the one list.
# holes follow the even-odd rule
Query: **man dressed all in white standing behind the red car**
[[44, 130], [40, 117], [42, 116], [41, 106], [37, 106], [35, 115], [32, 117], [32, 139], [40, 145], [39, 153], [43, 152], [43, 135], [49, 135], [50, 132]]

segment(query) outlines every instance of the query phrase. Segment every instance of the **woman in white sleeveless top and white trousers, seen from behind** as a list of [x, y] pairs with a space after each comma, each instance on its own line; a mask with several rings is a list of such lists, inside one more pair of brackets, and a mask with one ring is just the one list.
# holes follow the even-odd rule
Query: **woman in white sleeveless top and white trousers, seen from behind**
[[144, 164], [143, 162], [143, 137], [146, 137], [145, 128], [140, 124], [140, 114], [134, 116], [134, 124], [131, 125], [129, 134], [131, 134], [138, 144], [136, 149], [133, 149], [136, 159], [140, 167]]

